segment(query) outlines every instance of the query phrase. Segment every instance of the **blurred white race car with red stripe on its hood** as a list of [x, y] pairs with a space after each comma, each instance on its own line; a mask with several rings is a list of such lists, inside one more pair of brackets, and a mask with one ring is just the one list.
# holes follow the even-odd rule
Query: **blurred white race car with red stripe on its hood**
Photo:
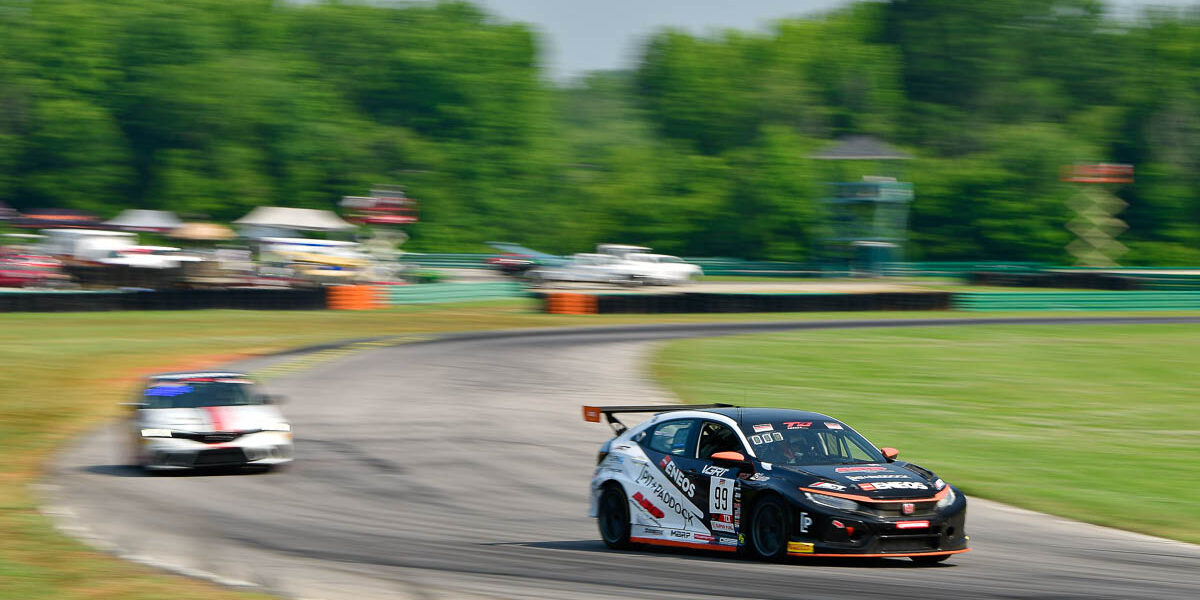
[[133, 461], [146, 469], [292, 462], [292, 425], [277, 403], [242, 373], [150, 376], [130, 403]]

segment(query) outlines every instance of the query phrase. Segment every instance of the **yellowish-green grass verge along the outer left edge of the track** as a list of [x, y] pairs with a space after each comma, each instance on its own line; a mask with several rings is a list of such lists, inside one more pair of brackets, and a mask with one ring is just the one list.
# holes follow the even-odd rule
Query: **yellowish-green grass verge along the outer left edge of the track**
[[139, 374], [175, 367], [203, 368], [245, 355], [383, 335], [583, 324], [946, 317], [978, 318], [978, 314], [572, 317], [536, 313], [529, 301], [408, 306], [367, 312], [0, 314], [0, 364], [5, 367], [0, 370], [0, 440], [5, 451], [5, 461], [0, 462], [0, 598], [263, 598], [248, 593], [239, 595], [90, 551], [56, 533], [49, 520], [37, 511], [37, 498], [30, 484], [54, 449], [97, 422], [116, 416], [120, 412], [116, 403], [125, 400]]

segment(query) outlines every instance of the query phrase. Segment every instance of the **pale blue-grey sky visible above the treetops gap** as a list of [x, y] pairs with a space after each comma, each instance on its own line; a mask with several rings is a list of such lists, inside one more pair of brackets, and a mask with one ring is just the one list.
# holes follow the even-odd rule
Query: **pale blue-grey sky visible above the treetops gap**
[[[986, 1], [986, 0], [980, 0]], [[846, 0], [476, 0], [505, 20], [542, 34], [542, 61], [554, 79], [634, 64], [641, 41], [666, 26], [703, 34], [766, 29], [774, 19], [820, 13]], [[1200, 0], [1109, 0], [1118, 13], [1139, 6], [1195, 6]]]

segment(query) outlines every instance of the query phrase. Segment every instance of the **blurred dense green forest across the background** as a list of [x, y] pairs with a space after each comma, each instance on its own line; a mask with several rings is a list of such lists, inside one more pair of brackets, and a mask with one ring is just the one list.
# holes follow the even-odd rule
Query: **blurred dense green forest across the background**
[[[1063, 264], [1060, 169], [1108, 161], [1121, 262], [1200, 264], [1200, 11], [864, 2], [570, 83], [541, 46], [468, 2], [0, 0], [0, 200], [228, 221], [398, 184], [406, 250], [806, 260], [823, 184], [882, 174], [916, 186], [911, 259]], [[914, 158], [810, 158], [856, 134]]]

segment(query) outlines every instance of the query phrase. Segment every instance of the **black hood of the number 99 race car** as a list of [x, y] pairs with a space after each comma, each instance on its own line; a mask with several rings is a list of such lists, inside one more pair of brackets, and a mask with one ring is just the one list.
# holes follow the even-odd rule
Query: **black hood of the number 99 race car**
[[929, 498], [946, 487], [932, 473], [907, 463], [780, 467], [800, 487], [874, 499]]

